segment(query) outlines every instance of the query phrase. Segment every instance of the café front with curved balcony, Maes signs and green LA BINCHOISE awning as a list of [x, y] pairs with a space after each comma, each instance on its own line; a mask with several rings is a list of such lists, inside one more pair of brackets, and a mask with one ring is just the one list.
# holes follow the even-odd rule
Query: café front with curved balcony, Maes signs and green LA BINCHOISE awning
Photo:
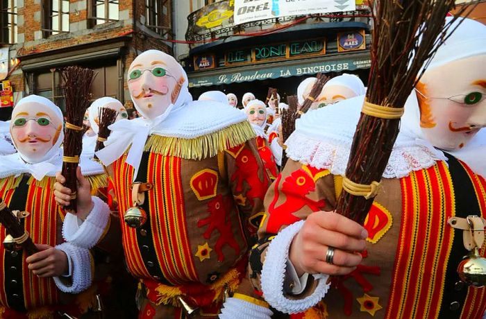
[[[216, 89], [240, 101], [245, 92], [265, 99], [275, 87], [285, 101], [303, 79], [319, 72], [355, 74], [367, 83], [371, 12], [364, 1], [326, 1], [332, 14], [275, 15], [240, 24], [235, 24], [235, 0], [177, 2], [174, 33], [187, 44], [177, 44], [175, 53], [194, 98]], [[279, 2], [285, 1], [259, 1], [263, 7]]]

